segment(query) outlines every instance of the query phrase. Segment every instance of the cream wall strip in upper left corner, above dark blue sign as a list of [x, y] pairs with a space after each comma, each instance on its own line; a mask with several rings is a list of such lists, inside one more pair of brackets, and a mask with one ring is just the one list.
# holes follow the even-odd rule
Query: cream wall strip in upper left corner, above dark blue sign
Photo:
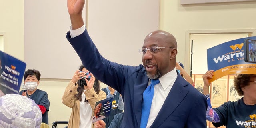
[[0, 0], [0, 32], [6, 33], [8, 54], [24, 60], [24, 0]]

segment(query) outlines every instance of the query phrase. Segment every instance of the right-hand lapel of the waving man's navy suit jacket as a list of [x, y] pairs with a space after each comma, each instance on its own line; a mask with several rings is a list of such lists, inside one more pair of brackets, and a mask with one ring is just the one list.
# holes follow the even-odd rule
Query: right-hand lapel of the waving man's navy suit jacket
[[172, 89], [164, 101], [162, 108], [158, 112], [158, 115], [156, 116], [156, 119], [150, 128], [158, 128], [172, 114], [172, 112], [188, 94], [188, 91], [184, 90], [184, 86], [186, 86], [187, 83], [181, 82], [182, 79], [184, 80], [184, 78], [178, 75], [172, 86]]

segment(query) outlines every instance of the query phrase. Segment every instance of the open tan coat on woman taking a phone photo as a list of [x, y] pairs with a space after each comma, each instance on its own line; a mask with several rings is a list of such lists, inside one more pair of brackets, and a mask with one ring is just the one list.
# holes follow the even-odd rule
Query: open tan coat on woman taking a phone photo
[[[77, 88], [78, 88], [78, 85], [75, 86], [75, 84], [70, 80], [62, 96], [62, 103], [72, 108], [70, 119], [68, 121], [68, 128], [79, 128], [80, 101], [76, 99], [74, 96], [77, 94], [77, 90], [76, 90]], [[94, 111], [95, 103], [97, 101], [106, 99], [106, 93], [104, 91], [100, 90], [99, 94], [97, 95], [96, 92], [94, 91], [94, 88], [91, 88], [90, 90], [86, 90], [84, 94], [86, 95], [86, 100], [88, 100], [90, 106], [92, 107], [92, 111]], [[90, 118], [92, 118], [92, 116], [93, 116], [93, 112]], [[92, 128], [93, 128], [93, 124], [92, 124]]]

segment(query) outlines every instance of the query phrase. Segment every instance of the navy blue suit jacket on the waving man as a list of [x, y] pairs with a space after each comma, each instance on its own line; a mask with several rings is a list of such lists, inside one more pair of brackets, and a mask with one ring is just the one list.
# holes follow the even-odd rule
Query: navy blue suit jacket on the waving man
[[[86, 30], [74, 38], [68, 32], [66, 38], [84, 67], [122, 94], [125, 110], [121, 128], [139, 128], [142, 94], [149, 81], [143, 65], [127, 66], [106, 60]], [[206, 128], [206, 109], [206, 97], [178, 75], [150, 128]]]

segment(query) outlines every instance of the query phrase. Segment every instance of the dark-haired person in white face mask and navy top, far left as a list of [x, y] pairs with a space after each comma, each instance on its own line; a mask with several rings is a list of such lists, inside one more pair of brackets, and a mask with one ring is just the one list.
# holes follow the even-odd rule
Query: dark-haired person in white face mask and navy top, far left
[[20, 91], [19, 94], [35, 101], [42, 112], [42, 123], [48, 124], [48, 111], [50, 107], [50, 101], [48, 99], [48, 94], [45, 91], [37, 89], [40, 76], [41, 74], [38, 70], [26, 70], [24, 74], [24, 87], [26, 90]]

